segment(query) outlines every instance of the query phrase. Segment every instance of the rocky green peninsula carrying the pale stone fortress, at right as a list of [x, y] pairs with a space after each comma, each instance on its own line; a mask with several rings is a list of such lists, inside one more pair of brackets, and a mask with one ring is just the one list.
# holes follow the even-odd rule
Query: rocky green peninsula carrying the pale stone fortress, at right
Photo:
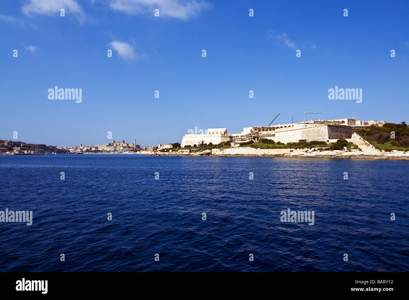
[[233, 134], [209, 128], [184, 134], [180, 144], [163, 145], [151, 155], [409, 159], [409, 127], [353, 117], [245, 127]]

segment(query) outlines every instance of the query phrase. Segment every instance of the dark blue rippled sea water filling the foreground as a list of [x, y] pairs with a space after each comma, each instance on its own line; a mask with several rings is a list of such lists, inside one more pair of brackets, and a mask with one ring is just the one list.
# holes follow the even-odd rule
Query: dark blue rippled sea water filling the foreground
[[[0, 223], [0, 271], [409, 269], [409, 161], [84, 154], [0, 167], [0, 210], [34, 217]], [[280, 222], [288, 208], [315, 224]]]

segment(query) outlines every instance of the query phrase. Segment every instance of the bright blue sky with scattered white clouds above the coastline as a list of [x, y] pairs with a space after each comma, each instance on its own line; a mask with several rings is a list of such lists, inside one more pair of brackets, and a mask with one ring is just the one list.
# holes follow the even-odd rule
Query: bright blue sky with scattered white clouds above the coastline
[[[112, 131], [155, 145], [304, 109], [408, 122], [408, 13], [408, 1], [3, 1], [0, 139], [89, 145]], [[82, 102], [49, 100], [56, 85]], [[328, 100], [335, 86], [361, 88], [362, 103]]]

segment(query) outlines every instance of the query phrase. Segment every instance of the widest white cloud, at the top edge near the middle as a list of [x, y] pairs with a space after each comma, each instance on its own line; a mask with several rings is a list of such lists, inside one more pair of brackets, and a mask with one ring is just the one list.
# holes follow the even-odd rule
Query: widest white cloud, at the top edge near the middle
[[109, 6], [114, 10], [133, 15], [151, 13], [153, 16], [155, 9], [159, 9], [159, 16], [183, 20], [211, 8], [209, 3], [197, 0], [111, 0]]

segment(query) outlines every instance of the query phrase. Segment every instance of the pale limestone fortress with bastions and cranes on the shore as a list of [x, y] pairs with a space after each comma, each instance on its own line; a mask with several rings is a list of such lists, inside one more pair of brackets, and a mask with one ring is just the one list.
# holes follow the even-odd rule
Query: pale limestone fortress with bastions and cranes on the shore
[[226, 128], [209, 128], [202, 134], [184, 134], [181, 147], [199, 144], [219, 144], [230, 141], [232, 147], [254, 138], [268, 138], [275, 142], [310, 142], [313, 140], [327, 143], [339, 138], [351, 138], [354, 129], [371, 125], [383, 126], [385, 121], [359, 121], [352, 119], [309, 120], [294, 124], [278, 124], [268, 127], [245, 127], [241, 133], [227, 134]]

